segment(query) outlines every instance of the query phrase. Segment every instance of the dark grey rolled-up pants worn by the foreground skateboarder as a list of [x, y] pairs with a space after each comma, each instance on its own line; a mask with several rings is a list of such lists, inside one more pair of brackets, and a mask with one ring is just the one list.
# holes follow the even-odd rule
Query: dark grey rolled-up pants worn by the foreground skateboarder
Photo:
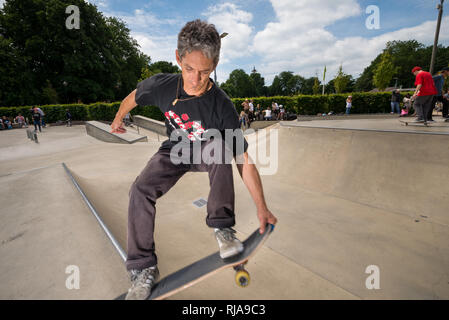
[[[222, 146], [224, 155], [224, 142]], [[209, 173], [206, 224], [211, 228], [226, 228], [235, 224], [232, 164], [207, 164], [204, 161], [200, 164], [173, 164], [170, 150], [160, 149], [136, 178], [129, 192], [128, 270], [142, 270], [157, 264], [153, 238], [156, 200], [188, 171]]]

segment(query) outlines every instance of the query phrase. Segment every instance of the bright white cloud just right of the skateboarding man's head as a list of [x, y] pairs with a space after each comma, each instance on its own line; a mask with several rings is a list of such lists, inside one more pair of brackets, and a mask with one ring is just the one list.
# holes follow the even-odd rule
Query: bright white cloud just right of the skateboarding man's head
[[209, 23], [215, 25], [220, 34], [228, 33], [221, 41], [221, 64], [250, 54], [254, 32], [254, 28], [250, 26], [253, 19], [251, 13], [227, 2], [209, 7], [203, 15]]

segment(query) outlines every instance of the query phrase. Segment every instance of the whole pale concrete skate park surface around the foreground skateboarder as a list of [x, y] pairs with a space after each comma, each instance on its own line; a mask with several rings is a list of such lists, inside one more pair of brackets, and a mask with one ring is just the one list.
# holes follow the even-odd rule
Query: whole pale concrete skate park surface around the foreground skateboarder
[[[126, 253], [129, 188], [166, 137], [129, 128], [146, 139], [111, 143], [86, 127], [50, 125], [39, 143], [22, 129], [0, 133], [0, 299], [114, 299], [128, 289], [123, 256], [72, 178]], [[278, 224], [248, 262], [251, 284], [237, 287], [231, 269], [171, 299], [449, 298], [449, 127], [387, 116], [281, 121], [261, 132], [247, 139], [277, 144], [274, 169], [257, 166]], [[235, 166], [234, 187], [245, 239], [259, 222]], [[193, 204], [208, 190], [207, 173], [187, 173], [158, 200], [161, 277], [217, 251], [205, 207]], [[373, 265], [379, 289], [366, 286]], [[68, 266], [79, 268], [79, 289], [66, 287]]]

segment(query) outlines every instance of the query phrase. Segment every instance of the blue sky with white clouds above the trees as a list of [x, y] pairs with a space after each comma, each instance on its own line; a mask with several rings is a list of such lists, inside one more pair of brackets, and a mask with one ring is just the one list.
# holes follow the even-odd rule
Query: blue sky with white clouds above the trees
[[[122, 19], [153, 62], [176, 63], [177, 34], [194, 19], [213, 23], [222, 39], [217, 80], [234, 69], [253, 68], [270, 85], [292, 71], [332, 79], [340, 65], [357, 78], [387, 41], [434, 41], [440, 0], [86, 0], [105, 16]], [[0, 6], [4, 0], [0, 0]], [[377, 29], [366, 20], [378, 8]], [[449, 45], [449, 1], [444, 4], [439, 43]], [[81, 17], [82, 19], [82, 17]], [[326, 81], [327, 82], [327, 81]]]

